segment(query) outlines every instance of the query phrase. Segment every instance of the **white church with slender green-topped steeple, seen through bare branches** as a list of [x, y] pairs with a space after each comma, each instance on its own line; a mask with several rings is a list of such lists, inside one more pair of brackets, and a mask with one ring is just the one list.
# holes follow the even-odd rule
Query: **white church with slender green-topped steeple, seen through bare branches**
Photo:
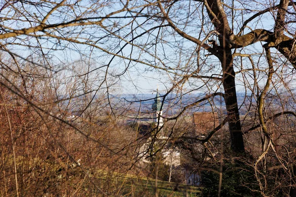
[[[192, 170], [185, 164], [184, 158], [179, 147], [175, 147], [168, 141], [168, 136], [165, 135], [166, 125], [163, 121], [163, 103], [161, 96], [157, 92], [154, 98], [154, 103], [151, 106], [152, 122], [148, 124], [147, 121], [140, 123], [139, 127], [142, 133], [147, 135], [147, 140], [141, 145], [139, 149], [138, 158], [144, 165], [149, 165], [151, 162], [152, 154], [157, 151], [155, 149], [163, 147], [160, 150], [162, 163], [168, 166], [168, 181], [174, 175], [184, 177], [182, 182], [188, 185], [199, 185], [199, 173]], [[166, 143], [166, 144], [165, 144]]]

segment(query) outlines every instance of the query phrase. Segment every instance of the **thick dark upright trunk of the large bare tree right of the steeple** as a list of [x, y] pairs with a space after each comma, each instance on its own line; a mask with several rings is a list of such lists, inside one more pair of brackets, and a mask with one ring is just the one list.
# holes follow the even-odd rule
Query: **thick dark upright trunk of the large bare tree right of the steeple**
[[[213, 47], [218, 51], [218, 54], [214, 55], [219, 58], [222, 64], [222, 84], [225, 95], [224, 99], [230, 132], [231, 149], [236, 153], [243, 153], [245, 151], [245, 147], [237, 104], [235, 72], [233, 70], [231, 52], [231, 41], [233, 41], [236, 37], [231, 32], [227, 21], [227, 15], [223, 9], [221, 0], [205, 0], [204, 4], [216, 31], [220, 33], [219, 46], [216, 48], [215, 46]], [[248, 41], [250, 40], [249, 38], [246, 39]]]

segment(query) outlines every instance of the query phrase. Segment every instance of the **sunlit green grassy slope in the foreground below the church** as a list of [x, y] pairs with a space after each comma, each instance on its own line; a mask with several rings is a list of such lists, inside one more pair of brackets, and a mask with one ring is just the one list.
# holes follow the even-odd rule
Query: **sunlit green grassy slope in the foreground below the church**
[[[10, 158], [8, 162], [12, 165], [13, 158]], [[60, 164], [41, 163], [41, 160], [38, 159], [29, 161], [23, 157], [18, 157], [16, 162], [17, 165], [25, 162], [48, 169], [46, 174], [43, 174], [44, 177], [48, 178], [44, 185], [51, 188], [57, 187], [56, 189], [59, 191], [62, 189], [55, 186], [55, 184], [63, 185], [67, 178], [68, 189], [72, 192], [76, 191], [75, 194], [81, 194], [80, 196], [100, 197], [103, 196], [102, 193], [105, 193], [110, 197], [155, 197], [157, 192], [159, 197], [184, 197], [186, 195], [188, 197], [198, 197], [201, 193], [199, 187], [161, 180], [157, 180], [157, 187], [155, 187], [155, 179], [113, 171], [98, 170], [90, 173], [88, 178], [80, 168], [76, 167], [67, 169], [66, 176], [65, 167], [62, 168], [62, 171], [58, 170], [61, 168]]]

